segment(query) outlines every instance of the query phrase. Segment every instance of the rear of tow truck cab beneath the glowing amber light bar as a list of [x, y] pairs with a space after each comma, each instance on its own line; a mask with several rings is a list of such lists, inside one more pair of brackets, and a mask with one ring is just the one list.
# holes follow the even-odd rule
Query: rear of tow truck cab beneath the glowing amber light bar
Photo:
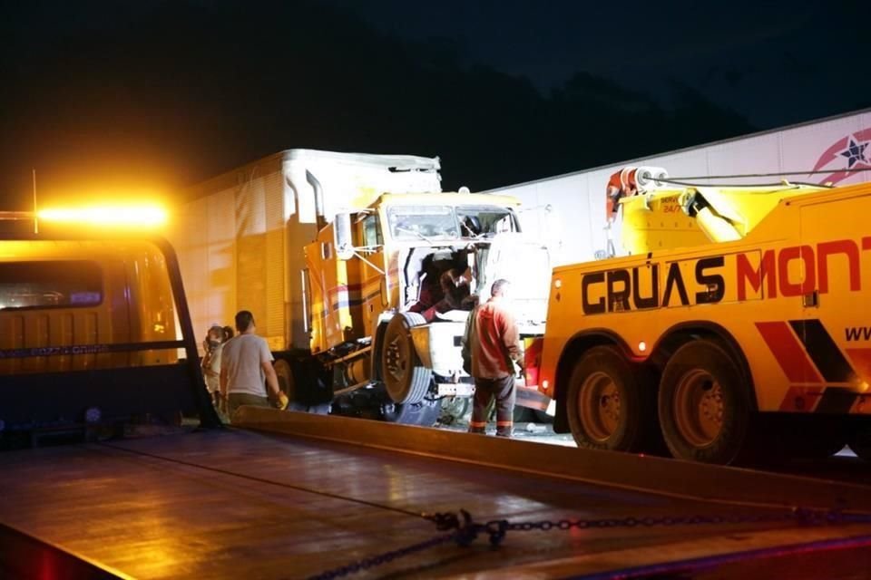
[[0, 435], [216, 420], [175, 254], [156, 237], [0, 233], [0, 382]]

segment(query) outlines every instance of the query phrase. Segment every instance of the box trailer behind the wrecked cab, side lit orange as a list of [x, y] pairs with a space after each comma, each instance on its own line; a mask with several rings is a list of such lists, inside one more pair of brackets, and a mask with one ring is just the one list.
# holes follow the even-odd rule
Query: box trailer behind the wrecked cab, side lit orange
[[[440, 192], [438, 158], [285, 150], [184, 192], [168, 237], [198, 333], [247, 309], [273, 351], [308, 349], [302, 247], [384, 192]], [[320, 216], [320, 218], [318, 218]]]

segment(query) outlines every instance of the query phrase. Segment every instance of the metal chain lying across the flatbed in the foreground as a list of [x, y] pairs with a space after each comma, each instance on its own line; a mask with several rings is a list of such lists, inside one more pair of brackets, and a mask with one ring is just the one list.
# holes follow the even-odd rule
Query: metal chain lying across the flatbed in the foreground
[[699, 525], [729, 525], [729, 524], [768, 524], [777, 522], [794, 522], [798, 525], [819, 526], [823, 524], [855, 524], [871, 523], [871, 514], [845, 513], [840, 508], [830, 510], [807, 509], [794, 507], [788, 512], [776, 514], [749, 514], [736, 516], [663, 516], [663, 517], [606, 517], [602, 519], [544, 519], [535, 522], [509, 522], [507, 519], [493, 519], [485, 524], [475, 522], [472, 515], [465, 509], [459, 512], [439, 512], [421, 514], [421, 517], [431, 521], [439, 531], [454, 530], [450, 534], [435, 536], [432, 539], [406, 546], [398, 550], [386, 552], [357, 560], [349, 565], [311, 576], [310, 580], [332, 580], [360, 570], [387, 564], [398, 557], [408, 556], [431, 547], [440, 546], [454, 541], [459, 546], [468, 546], [478, 535], [487, 536], [491, 546], [499, 546], [509, 531], [528, 532], [540, 530], [567, 531], [573, 528], [591, 529], [608, 527], [657, 527], [657, 526], [699, 526]]

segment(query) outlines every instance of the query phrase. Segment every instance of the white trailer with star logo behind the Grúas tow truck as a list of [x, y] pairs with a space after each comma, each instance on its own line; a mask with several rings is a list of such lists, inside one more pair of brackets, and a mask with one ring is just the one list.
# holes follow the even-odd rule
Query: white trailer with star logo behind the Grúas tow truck
[[[524, 208], [524, 231], [547, 243], [554, 266], [586, 262], [607, 253], [605, 186], [608, 179], [615, 171], [633, 165], [666, 167], [671, 177], [777, 173], [795, 181], [859, 183], [871, 179], [871, 171], [846, 172], [844, 169], [871, 169], [871, 110], [583, 169], [488, 193], [520, 198]], [[730, 179], [729, 182], [771, 182], [780, 177]], [[704, 182], [702, 179], [693, 181]], [[611, 232], [614, 240], [620, 239], [619, 227], [618, 221]], [[621, 247], [615, 249], [618, 255], [624, 253]]]

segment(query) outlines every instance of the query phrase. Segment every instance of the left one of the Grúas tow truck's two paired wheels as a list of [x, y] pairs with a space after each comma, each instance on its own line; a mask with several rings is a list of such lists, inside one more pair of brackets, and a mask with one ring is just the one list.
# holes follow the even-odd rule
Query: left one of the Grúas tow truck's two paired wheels
[[655, 392], [613, 346], [595, 346], [575, 363], [566, 393], [578, 447], [640, 452], [657, 440]]

